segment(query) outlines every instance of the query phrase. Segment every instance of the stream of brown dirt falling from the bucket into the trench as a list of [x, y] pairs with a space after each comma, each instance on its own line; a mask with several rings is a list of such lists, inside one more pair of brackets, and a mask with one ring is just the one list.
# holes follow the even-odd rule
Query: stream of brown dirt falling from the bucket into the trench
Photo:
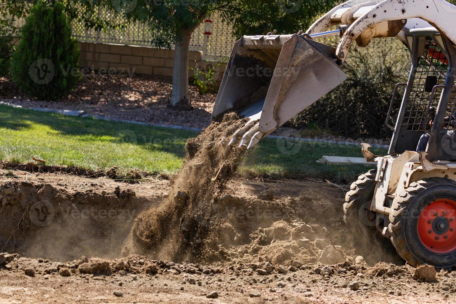
[[214, 255], [223, 224], [214, 206], [245, 153], [244, 147], [228, 145], [228, 141], [245, 122], [228, 113], [188, 140], [187, 158], [170, 182], [170, 196], [159, 208], [150, 208], [135, 220], [125, 254], [141, 248], [141, 252], [172, 260]]

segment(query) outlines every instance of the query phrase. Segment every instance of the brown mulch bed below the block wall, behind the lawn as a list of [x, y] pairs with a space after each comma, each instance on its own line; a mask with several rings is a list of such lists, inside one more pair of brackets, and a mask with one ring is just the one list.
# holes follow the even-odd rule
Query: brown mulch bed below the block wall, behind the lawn
[[193, 109], [190, 111], [168, 108], [170, 95], [168, 79], [91, 74], [83, 77], [67, 97], [49, 102], [28, 98], [12, 80], [0, 78], [0, 100], [23, 107], [84, 110], [117, 119], [201, 129], [210, 124], [217, 94], [201, 95], [191, 86]]

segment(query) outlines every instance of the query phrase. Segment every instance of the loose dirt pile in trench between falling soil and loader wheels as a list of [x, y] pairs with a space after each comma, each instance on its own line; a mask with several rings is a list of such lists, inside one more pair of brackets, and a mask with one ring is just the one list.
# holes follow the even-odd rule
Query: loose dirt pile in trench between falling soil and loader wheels
[[[234, 195], [219, 201], [218, 256], [229, 263], [286, 267], [345, 261], [403, 264], [391, 244], [378, 247], [372, 236], [363, 242], [352, 237], [342, 220], [339, 192], [306, 188], [299, 196], [272, 201]], [[372, 252], [374, 246], [378, 250]]]

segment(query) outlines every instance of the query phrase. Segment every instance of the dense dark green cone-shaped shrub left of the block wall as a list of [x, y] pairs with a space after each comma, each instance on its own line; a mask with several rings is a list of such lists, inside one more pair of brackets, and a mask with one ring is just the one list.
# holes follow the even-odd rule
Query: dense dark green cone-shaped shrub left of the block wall
[[55, 100], [78, 81], [79, 50], [63, 5], [38, 2], [21, 29], [21, 42], [13, 54], [11, 72], [29, 96]]

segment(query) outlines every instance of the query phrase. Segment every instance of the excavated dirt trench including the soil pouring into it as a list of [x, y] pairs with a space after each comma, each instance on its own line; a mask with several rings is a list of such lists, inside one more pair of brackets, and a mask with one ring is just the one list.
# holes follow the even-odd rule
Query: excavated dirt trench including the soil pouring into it
[[347, 232], [340, 189], [243, 191], [233, 178], [245, 150], [227, 144], [242, 124], [231, 113], [190, 139], [169, 182], [2, 176], [0, 252], [56, 261], [142, 254], [176, 263], [403, 263], [384, 242]]

